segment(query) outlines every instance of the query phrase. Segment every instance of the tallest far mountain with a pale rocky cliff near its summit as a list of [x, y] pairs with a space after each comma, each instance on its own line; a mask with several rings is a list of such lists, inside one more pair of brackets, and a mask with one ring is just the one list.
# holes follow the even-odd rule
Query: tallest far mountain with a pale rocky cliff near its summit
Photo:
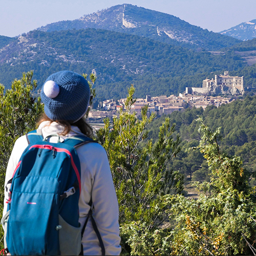
[[130, 4], [113, 6], [75, 20], [52, 23], [38, 30], [52, 32], [86, 28], [124, 32], [191, 49], [218, 50], [239, 42], [238, 39], [190, 25], [173, 15]]

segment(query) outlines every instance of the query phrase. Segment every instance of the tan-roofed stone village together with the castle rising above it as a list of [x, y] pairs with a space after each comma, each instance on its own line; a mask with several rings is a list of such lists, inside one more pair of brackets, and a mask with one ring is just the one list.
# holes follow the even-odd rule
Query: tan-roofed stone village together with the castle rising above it
[[[148, 116], [151, 113], [161, 116], [193, 107], [205, 110], [206, 106], [215, 105], [218, 108], [222, 104], [228, 104], [235, 100], [234, 97], [211, 96], [211, 92], [216, 93], [216, 90], [222, 95], [225, 94], [225, 96], [242, 95], [244, 93], [243, 77], [231, 77], [228, 71], [225, 71], [224, 75], [216, 75], [215, 80], [207, 78], [203, 80], [202, 88], [186, 88], [186, 91], [180, 93], [179, 96], [170, 95], [167, 97], [163, 95], [151, 97], [146, 95], [145, 98], [136, 99], [132, 106], [132, 112], [135, 112], [139, 117], [142, 107], [147, 105]], [[119, 100], [109, 99], [101, 102], [100, 110], [93, 109], [89, 112], [89, 122], [101, 123], [106, 117], [112, 119], [113, 116], [118, 116], [121, 109], [125, 111], [125, 100], [126, 98]]]

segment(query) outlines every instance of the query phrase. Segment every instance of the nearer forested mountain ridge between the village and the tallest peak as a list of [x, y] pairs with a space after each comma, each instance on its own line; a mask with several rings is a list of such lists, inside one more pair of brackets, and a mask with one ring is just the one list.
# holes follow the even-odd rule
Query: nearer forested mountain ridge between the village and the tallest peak
[[[232, 51], [213, 55], [149, 38], [109, 30], [30, 31], [0, 49], [0, 82], [10, 87], [22, 72], [34, 70], [41, 86], [60, 70], [97, 75], [98, 97], [125, 97], [133, 83], [136, 96], [178, 94], [199, 87], [206, 77], [237, 71], [247, 64]], [[246, 79], [245, 79], [246, 81]]]

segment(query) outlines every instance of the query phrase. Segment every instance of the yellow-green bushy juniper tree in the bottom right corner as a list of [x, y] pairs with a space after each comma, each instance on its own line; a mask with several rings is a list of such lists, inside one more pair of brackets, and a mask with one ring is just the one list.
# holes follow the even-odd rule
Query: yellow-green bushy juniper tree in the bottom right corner
[[[210, 182], [198, 184], [198, 200], [166, 196], [172, 204], [169, 216], [175, 228], [169, 233], [173, 254], [253, 254], [256, 228], [255, 191], [248, 184], [249, 173], [237, 156], [222, 153], [220, 129], [211, 132], [201, 122], [198, 147], [211, 171]], [[166, 203], [167, 203], [166, 201]]]

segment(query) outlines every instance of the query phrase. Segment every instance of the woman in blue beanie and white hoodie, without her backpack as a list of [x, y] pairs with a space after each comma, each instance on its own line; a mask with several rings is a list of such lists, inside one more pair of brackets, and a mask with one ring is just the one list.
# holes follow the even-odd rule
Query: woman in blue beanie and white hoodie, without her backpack
[[[58, 134], [63, 141], [76, 135], [92, 136], [91, 127], [83, 120], [90, 101], [90, 88], [81, 75], [71, 71], [52, 74], [41, 90], [41, 99], [45, 104], [45, 114], [39, 120], [38, 130], [44, 138]], [[51, 137], [50, 142], [57, 142], [57, 137]], [[12, 178], [19, 158], [27, 146], [26, 136], [15, 142], [7, 167], [6, 184]], [[105, 253], [119, 255], [121, 247], [118, 203], [106, 152], [98, 143], [83, 144], [76, 151], [81, 166], [79, 222], [81, 226], [86, 222], [92, 200], [94, 219]], [[7, 200], [8, 193], [5, 191], [5, 202]], [[4, 206], [4, 215], [6, 210], [7, 204]], [[83, 233], [82, 245], [83, 255], [101, 255], [101, 247], [91, 218]]]

